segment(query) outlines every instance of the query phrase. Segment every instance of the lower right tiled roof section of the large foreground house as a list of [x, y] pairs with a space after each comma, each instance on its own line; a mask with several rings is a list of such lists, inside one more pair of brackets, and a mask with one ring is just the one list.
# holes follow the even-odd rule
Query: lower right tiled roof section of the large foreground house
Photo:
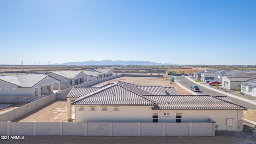
[[232, 102], [209, 95], [144, 96], [161, 110], [247, 110]]

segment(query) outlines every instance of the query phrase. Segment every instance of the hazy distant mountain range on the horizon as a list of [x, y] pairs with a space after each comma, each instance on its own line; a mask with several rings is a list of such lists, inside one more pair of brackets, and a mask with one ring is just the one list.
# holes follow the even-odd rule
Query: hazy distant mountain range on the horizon
[[[56, 64], [54, 64], [56, 65]], [[123, 60], [102, 60], [102, 61], [85, 61], [85, 62], [65, 62], [63, 64], [57, 64], [57, 65], [177, 65], [177, 64], [168, 64], [168, 63], [156, 63], [156, 62], [150, 62], [150, 61], [123, 61]]]

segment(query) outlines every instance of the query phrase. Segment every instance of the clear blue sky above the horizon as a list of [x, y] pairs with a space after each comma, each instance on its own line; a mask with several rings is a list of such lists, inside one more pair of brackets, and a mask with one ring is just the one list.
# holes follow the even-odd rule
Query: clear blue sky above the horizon
[[256, 0], [0, 0], [0, 50], [0, 64], [256, 65]]

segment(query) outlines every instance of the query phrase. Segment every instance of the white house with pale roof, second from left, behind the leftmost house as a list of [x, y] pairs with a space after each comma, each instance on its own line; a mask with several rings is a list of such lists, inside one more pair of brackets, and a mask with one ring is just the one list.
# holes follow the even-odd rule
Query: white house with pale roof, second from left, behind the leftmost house
[[60, 80], [60, 84], [75, 85], [86, 82], [86, 74], [81, 71], [50, 72], [48, 75]]

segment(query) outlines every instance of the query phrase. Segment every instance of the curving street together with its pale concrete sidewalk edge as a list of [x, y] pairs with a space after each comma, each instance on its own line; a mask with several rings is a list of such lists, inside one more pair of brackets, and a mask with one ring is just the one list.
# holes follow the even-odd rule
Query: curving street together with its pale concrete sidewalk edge
[[[199, 95], [212, 95], [212, 96], [228, 96], [234, 103], [244, 106], [248, 109], [256, 110], [256, 102], [248, 102], [250, 100], [240, 98], [238, 96], [230, 96], [230, 94], [224, 92], [218, 91], [218, 90], [211, 90], [208, 86], [203, 86], [202, 84], [195, 82], [194, 80], [189, 80], [186, 76], [176, 76], [176, 81], [179, 83], [179, 85], [182, 85], [185, 90], [190, 91], [189, 87], [192, 85], [197, 85], [200, 88], [200, 92], [192, 92], [193, 94], [199, 94]], [[238, 98], [236, 98], [238, 97]], [[255, 104], [254, 104], [255, 103]]]

